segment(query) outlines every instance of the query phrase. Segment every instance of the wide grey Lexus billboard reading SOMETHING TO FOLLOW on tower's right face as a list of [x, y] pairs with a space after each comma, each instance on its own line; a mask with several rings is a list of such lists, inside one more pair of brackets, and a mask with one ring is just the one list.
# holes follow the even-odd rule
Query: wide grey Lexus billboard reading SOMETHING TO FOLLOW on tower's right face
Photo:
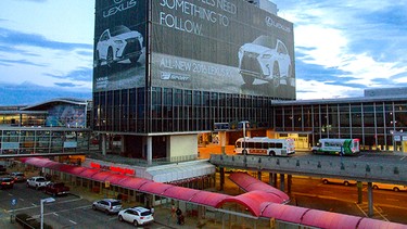
[[151, 84], [295, 99], [292, 23], [242, 0], [154, 0]]

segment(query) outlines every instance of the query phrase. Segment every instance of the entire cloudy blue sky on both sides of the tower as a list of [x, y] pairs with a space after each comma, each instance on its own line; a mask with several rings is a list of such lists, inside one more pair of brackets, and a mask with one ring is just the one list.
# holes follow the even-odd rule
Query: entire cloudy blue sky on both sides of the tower
[[[272, 2], [294, 24], [297, 100], [407, 86], [407, 1]], [[91, 99], [94, 0], [1, 0], [0, 9], [0, 105]]]

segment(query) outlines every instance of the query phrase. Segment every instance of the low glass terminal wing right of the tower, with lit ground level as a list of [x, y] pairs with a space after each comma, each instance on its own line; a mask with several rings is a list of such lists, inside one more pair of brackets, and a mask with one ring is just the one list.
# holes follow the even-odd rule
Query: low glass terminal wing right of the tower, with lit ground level
[[321, 138], [353, 138], [360, 140], [361, 150], [405, 151], [403, 138], [394, 137], [407, 130], [406, 96], [272, 104], [276, 132], [293, 136], [298, 148], [309, 149]]

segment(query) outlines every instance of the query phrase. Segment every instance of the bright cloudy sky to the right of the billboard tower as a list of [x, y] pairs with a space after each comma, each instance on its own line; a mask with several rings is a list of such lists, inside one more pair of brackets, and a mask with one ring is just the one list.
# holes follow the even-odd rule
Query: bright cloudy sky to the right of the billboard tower
[[[275, 3], [280, 9], [279, 16], [294, 23], [300, 94], [327, 98], [329, 93], [320, 88], [329, 88], [334, 97], [357, 91], [361, 96], [368, 87], [406, 84], [406, 1]], [[340, 87], [330, 87], [331, 84]]]

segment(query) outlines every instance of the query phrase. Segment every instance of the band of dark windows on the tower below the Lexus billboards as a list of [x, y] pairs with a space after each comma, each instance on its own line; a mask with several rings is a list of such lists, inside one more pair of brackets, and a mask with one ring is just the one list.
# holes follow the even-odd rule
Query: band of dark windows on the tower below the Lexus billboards
[[[101, 131], [202, 131], [214, 123], [251, 120], [270, 127], [270, 98], [144, 88], [93, 93], [93, 128]], [[150, 103], [147, 101], [151, 101]], [[149, 104], [149, 105], [145, 105]]]

